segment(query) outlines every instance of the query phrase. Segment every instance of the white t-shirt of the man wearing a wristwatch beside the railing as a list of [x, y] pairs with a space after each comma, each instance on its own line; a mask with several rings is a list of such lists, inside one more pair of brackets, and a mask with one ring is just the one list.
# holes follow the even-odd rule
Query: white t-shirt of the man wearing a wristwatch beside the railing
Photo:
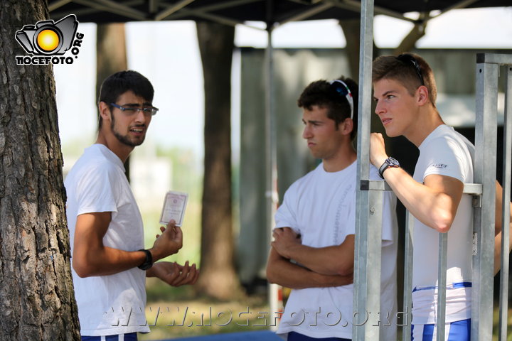
[[[414, 179], [423, 183], [427, 175], [437, 174], [473, 183], [473, 156], [471, 142], [443, 124], [420, 145]], [[463, 194], [448, 232], [447, 323], [471, 318], [472, 232], [472, 200]], [[435, 323], [439, 232], [415, 219], [413, 244], [412, 323]]]

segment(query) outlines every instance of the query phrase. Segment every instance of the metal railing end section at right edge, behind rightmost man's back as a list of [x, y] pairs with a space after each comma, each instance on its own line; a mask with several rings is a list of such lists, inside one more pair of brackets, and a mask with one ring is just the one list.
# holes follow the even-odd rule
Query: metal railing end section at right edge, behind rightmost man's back
[[[471, 340], [491, 340], [493, 325], [494, 287], [494, 225], [496, 187], [496, 139], [498, 77], [500, 67], [506, 66], [506, 108], [503, 131], [503, 207], [501, 229], [501, 341], [506, 340], [508, 298], [508, 229], [510, 221], [511, 188], [511, 134], [512, 134], [512, 55], [481, 53], [476, 57], [476, 126], [475, 126], [475, 182], [482, 184], [481, 205], [474, 209], [473, 288], [471, 303]], [[504, 332], [503, 332], [504, 330]]]

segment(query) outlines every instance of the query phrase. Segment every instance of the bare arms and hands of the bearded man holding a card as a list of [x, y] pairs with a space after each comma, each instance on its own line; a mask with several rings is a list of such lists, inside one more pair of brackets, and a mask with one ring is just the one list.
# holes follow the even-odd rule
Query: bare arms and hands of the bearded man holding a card
[[[139, 266], [146, 255], [143, 251], [124, 251], [106, 247], [103, 237], [107, 233], [111, 212], [94, 212], [79, 215], [73, 241], [73, 269], [80, 277], [107, 276]], [[183, 246], [183, 234], [174, 223], [161, 227], [161, 234], [149, 249], [153, 261], [176, 254]], [[193, 284], [198, 277], [196, 264], [181, 266], [161, 261], [146, 271], [146, 276], [156, 276], [173, 286]]]

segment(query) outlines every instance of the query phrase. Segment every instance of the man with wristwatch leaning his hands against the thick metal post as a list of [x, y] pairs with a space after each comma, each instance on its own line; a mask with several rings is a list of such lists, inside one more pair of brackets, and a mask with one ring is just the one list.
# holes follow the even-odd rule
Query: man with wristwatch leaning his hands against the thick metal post
[[439, 232], [448, 233], [445, 340], [470, 338], [473, 207], [463, 195], [473, 182], [474, 146], [446, 126], [435, 101], [430, 66], [415, 54], [373, 62], [375, 114], [388, 136], [405, 136], [420, 149], [411, 177], [388, 158], [381, 134], [370, 136], [370, 160], [414, 221], [412, 338], [435, 340]]

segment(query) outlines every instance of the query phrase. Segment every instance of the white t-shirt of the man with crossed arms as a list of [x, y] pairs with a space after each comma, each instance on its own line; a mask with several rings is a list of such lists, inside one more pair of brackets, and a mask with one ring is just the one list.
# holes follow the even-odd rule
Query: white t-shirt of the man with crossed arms
[[[276, 228], [291, 227], [301, 234], [302, 244], [329, 247], [343, 243], [356, 228], [357, 162], [342, 171], [328, 173], [321, 163], [293, 183], [277, 210]], [[370, 179], [380, 180], [370, 168]], [[381, 340], [396, 340], [396, 197], [384, 194], [382, 229]], [[353, 284], [331, 288], [294, 289], [277, 333], [299, 332], [309, 337], [352, 338]], [[375, 312], [373, 312], [375, 314]]]

